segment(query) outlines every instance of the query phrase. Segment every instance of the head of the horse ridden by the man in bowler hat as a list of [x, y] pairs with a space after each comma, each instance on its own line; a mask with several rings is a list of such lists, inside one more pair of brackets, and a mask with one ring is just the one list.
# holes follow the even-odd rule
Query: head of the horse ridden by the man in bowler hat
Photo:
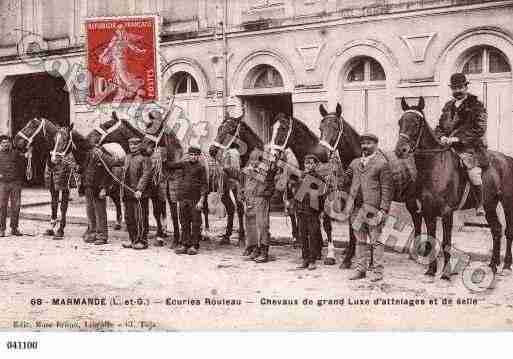
[[424, 97], [419, 98], [417, 105], [410, 106], [401, 99], [403, 114], [399, 119], [399, 139], [395, 146], [395, 153], [399, 158], [405, 158], [415, 152], [422, 137], [422, 131], [427, 127], [424, 115]]

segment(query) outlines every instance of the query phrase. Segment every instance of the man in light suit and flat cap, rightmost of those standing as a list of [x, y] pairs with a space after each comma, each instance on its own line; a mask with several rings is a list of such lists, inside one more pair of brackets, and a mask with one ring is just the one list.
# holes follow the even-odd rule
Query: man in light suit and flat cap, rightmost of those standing
[[351, 188], [344, 211], [352, 210], [351, 223], [356, 237], [355, 272], [349, 279], [365, 278], [370, 270], [373, 275], [371, 281], [376, 282], [383, 279], [385, 246], [378, 239], [392, 202], [392, 174], [387, 159], [378, 150], [375, 135], [360, 136], [360, 143], [362, 157], [354, 159], [346, 172]]

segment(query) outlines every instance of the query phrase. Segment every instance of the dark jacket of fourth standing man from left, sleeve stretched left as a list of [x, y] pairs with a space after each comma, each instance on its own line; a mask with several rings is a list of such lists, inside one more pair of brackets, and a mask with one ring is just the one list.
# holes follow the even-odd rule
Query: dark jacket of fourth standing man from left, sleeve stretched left
[[[207, 171], [201, 162], [167, 160], [165, 166], [168, 171], [182, 171], [182, 177], [177, 183], [176, 197], [178, 201], [190, 200], [198, 202], [207, 193]], [[171, 173], [172, 173], [171, 172]]]

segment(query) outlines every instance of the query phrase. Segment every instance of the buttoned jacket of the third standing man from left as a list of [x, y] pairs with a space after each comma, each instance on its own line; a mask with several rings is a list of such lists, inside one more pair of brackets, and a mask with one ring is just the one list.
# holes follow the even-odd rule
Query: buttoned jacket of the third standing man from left
[[[153, 169], [151, 158], [145, 156], [141, 151], [129, 153], [125, 157], [125, 165], [123, 166], [123, 183], [130, 187], [133, 191], [140, 191], [142, 197], [149, 197]], [[123, 199], [135, 199], [134, 193], [123, 187]]]

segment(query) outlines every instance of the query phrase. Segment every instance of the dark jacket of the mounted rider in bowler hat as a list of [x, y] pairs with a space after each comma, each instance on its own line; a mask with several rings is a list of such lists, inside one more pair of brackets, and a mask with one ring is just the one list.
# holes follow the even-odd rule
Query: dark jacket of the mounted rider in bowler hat
[[474, 95], [468, 94], [456, 108], [456, 100], [448, 101], [435, 129], [438, 138], [457, 137], [453, 144], [457, 152], [470, 152], [477, 155], [481, 166], [486, 165], [486, 126], [487, 113], [483, 103]]

